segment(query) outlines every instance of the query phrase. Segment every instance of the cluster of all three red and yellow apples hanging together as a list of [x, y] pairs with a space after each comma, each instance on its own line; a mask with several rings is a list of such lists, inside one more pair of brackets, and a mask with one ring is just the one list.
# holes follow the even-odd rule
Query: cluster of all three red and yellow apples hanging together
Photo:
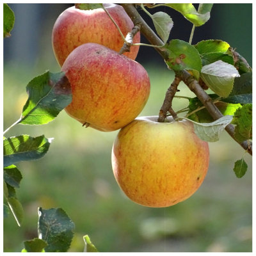
[[[134, 24], [118, 4], [104, 4], [124, 35]], [[140, 42], [140, 33], [134, 43]], [[191, 196], [202, 184], [209, 148], [188, 121], [157, 122], [157, 116], [136, 118], [144, 108], [150, 80], [134, 61], [138, 46], [119, 54], [124, 41], [102, 8], [71, 7], [52, 29], [56, 60], [72, 87], [65, 108], [83, 125], [100, 131], [120, 129], [113, 144], [116, 181], [134, 202], [166, 207]]]

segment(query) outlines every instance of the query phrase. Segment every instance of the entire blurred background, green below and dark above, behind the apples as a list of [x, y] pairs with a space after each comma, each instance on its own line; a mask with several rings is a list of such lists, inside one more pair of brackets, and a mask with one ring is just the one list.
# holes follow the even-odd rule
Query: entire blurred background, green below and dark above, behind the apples
[[[10, 6], [16, 22], [12, 36], [4, 39], [4, 129], [20, 116], [26, 84], [45, 70], [60, 70], [51, 49], [51, 29], [68, 4]], [[171, 14], [173, 38], [188, 40], [191, 25], [179, 13]], [[252, 4], [216, 4], [211, 15], [196, 29], [193, 42], [225, 40], [252, 64]], [[145, 48], [137, 60], [147, 69], [152, 90], [141, 116], [158, 114], [173, 79], [154, 49]], [[179, 95], [193, 97], [184, 84], [179, 89]], [[187, 104], [175, 99], [173, 108]], [[200, 189], [184, 202], [159, 209], [131, 202], [118, 188], [111, 169], [117, 132], [86, 129], [62, 111], [47, 125], [17, 125], [6, 134], [45, 134], [54, 140], [44, 158], [17, 164], [23, 175], [17, 196], [25, 218], [20, 228], [12, 215], [4, 219], [4, 252], [20, 252], [23, 241], [37, 236], [38, 207], [61, 207], [74, 221], [70, 252], [83, 252], [85, 234], [100, 252], [252, 252], [252, 157], [245, 156], [248, 172], [237, 179], [234, 162], [244, 150], [226, 132], [220, 141], [209, 143], [209, 172]]]

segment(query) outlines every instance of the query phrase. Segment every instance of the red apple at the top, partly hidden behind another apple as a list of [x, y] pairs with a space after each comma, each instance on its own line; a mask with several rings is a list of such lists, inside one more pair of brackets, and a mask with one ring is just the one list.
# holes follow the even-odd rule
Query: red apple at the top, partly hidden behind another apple
[[[134, 24], [124, 8], [110, 3], [104, 4], [104, 7], [126, 36]], [[60, 67], [70, 52], [77, 46], [89, 42], [104, 45], [117, 52], [124, 45], [115, 24], [102, 8], [79, 10], [73, 6], [61, 13], [52, 29], [52, 48]], [[133, 42], [140, 43], [140, 33], [134, 36]], [[132, 46], [131, 51], [124, 54], [135, 60], [138, 51], [139, 46]]]

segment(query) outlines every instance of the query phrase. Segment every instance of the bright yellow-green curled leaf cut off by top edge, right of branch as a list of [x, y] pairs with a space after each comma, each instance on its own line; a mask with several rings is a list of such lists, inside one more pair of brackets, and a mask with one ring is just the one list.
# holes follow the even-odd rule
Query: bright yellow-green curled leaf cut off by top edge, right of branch
[[186, 19], [195, 26], [202, 26], [210, 19], [210, 12], [213, 4], [199, 4], [196, 11], [193, 4], [164, 4], [180, 12]]

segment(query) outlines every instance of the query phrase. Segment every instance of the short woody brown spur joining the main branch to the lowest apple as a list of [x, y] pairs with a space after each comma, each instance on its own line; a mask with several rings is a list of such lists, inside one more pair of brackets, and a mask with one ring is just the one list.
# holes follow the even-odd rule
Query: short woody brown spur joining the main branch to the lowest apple
[[174, 120], [177, 118], [177, 113], [175, 113], [175, 111], [172, 109], [172, 100], [175, 93], [178, 90], [177, 88], [179, 83], [180, 83], [180, 77], [175, 76], [172, 84], [170, 85], [170, 87], [167, 89], [165, 93], [164, 102], [159, 111], [159, 117], [157, 119], [157, 122], [164, 122], [167, 112], [169, 112], [173, 116]]

